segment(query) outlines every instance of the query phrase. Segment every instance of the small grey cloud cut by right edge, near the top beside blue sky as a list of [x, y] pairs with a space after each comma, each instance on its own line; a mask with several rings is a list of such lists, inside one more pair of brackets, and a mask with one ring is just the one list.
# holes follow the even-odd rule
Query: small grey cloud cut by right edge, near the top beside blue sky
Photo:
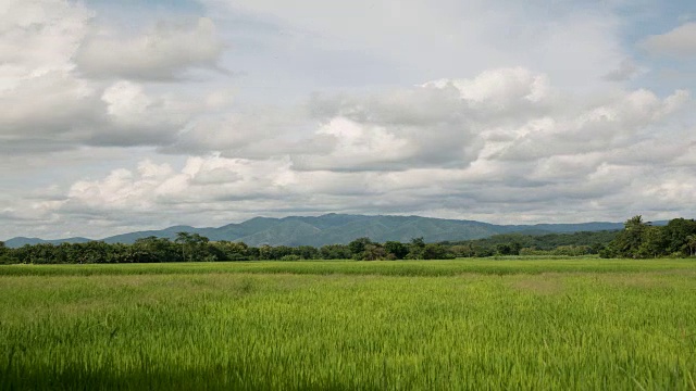
[[687, 22], [668, 33], [649, 36], [639, 47], [652, 55], [692, 58], [696, 55], [696, 22]]

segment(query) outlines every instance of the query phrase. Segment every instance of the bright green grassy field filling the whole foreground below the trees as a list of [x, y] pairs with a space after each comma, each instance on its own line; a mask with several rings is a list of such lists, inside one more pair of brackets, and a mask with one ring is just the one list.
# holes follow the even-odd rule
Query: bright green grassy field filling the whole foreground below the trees
[[0, 266], [0, 389], [696, 390], [696, 262]]

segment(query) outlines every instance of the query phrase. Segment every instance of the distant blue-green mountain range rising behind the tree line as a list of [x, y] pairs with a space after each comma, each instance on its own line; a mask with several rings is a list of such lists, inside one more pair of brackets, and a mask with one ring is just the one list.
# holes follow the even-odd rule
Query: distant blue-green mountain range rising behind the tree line
[[[667, 222], [656, 222], [664, 225]], [[107, 243], [134, 243], [137, 239], [158, 237], [175, 239], [177, 232], [198, 234], [210, 240], [244, 241], [249, 245], [314, 245], [348, 243], [353, 239], [369, 237], [378, 242], [388, 240], [408, 242], [422, 237], [426, 242], [445, 240], [471, 240], [488, 238], [497, 234], [522, 232], [531, 235], [568, 234], [622, 229], [622, 223], [494, 225], [473, 220], [430, 218], [420, 216], [365, 216], [326, 214], [323, 216], [289, 216], [284, 218], [254, 217], [239, 224], [222, 227], [195, 228], [174, 226], [162, 230], [137, 231], [101, 239]], [[82, 243], [86, 238], [41, 240], [38, 238], [14, 238], [7, 247], [62, 242]]]

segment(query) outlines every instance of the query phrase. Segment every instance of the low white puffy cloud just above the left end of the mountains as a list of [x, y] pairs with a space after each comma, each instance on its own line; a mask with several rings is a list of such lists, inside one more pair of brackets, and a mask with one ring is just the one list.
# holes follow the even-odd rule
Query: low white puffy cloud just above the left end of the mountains
[[156, 205], [204, 207], [220, 199], [266, 199], [278, 194], [286, 163], [224, 157], [189, 157], [181, 171], [149, 160], [137, 169], [114, 169], [99, 180], [71, 186], [64, 207], [147, 211]]

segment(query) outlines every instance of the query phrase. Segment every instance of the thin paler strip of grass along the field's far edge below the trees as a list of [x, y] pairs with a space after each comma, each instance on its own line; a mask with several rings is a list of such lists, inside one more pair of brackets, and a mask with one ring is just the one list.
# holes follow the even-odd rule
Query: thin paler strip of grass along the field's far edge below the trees
[[0, 276], [95, 276], [170, 274], [307, 274], [382, 276], [511, 275], [542, 273], [642, 273], [696, 270], [694, 260], [599, 260], [506, 257], [450, 261], [250, 261], [166, 264], [0, 265]]

